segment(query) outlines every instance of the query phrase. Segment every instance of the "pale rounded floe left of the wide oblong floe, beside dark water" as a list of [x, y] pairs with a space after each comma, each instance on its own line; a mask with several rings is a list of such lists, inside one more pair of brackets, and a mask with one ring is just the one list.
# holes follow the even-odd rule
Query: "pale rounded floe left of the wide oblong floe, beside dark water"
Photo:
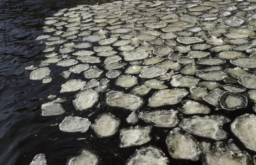
[[75, 95], [73, 104], [78, 110], [92, 108], [99, 99], [99, 93], [96, 90], [88, 89]]

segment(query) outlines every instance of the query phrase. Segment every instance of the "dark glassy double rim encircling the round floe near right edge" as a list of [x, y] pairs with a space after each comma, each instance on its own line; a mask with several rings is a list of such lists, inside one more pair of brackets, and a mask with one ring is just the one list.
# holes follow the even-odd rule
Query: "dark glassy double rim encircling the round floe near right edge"
[[[237, 98], [241, 98], [242, 105], [241, 106], [237, 106], [237, 107], [233, 107], [233, 108], [228, 108], [226, 103], [225, 103], [225, 99], [229, 95], [235, 96]], [[224, 93], [222, 93], [221, 97], [218, 98], [218, 101], [220, 102], [220, 105], [221, 105], [222, 109], [226, 109], [226, 110], [229, 110], [229, 111], [234, 111], [236, 109], [244, 108], [244, 107], [247, 106], [247, 103], [248, 103], [247, 97], [245, 97], [244, 95], [235, 93], [235, 92], [224, 92]]]

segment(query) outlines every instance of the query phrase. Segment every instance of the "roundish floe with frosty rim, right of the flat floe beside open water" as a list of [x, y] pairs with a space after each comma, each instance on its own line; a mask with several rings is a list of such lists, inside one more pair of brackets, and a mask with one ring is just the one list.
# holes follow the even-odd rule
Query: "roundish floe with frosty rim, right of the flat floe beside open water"
[[111, 113], [99, 115], [91, 125], [93, 131], [99, 137], [110, 137], [118, 131], [121, 121]]

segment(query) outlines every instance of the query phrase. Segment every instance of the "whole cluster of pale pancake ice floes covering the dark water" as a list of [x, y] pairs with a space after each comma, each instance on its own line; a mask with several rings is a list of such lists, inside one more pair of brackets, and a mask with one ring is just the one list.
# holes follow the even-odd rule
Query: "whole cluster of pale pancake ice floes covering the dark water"
[[[41, 63], [26, 67], [31, 80], [61, 82], [61, 98], [49, 95], [41, 115], [60, 115], [64, 134], [92, 129], [91, 137], [119, 137], [122, 149], [144, 145], [127, 165], [169, 159], [252, 165], [253, 155], [227, 138], [235, 135], [256, 151], [255, 6], [255, 0], [125, 0], [61, 9], [36, 38], [46, 45]], [[75, 113], [66, 115], [62, 102], [70, 95]], [[95, 109], [105, 112], [79, 116]], [[130, 115], [121, 121], [113, 109]], [[148, 146], [160, 127], [168, 130], [169, 153]], [[100, 162], [83, 148], [67, 165]], [[46, 165], [44, 154], [31, 165]]]

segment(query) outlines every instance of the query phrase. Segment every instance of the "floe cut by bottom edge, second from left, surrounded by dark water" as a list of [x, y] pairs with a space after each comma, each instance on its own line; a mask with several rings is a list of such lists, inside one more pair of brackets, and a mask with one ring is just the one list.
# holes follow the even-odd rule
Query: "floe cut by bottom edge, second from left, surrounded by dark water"
[[82, 150], [79, 155], [70, 158], [67, 165], [99, 165], [100, 158], [89, 150]]

